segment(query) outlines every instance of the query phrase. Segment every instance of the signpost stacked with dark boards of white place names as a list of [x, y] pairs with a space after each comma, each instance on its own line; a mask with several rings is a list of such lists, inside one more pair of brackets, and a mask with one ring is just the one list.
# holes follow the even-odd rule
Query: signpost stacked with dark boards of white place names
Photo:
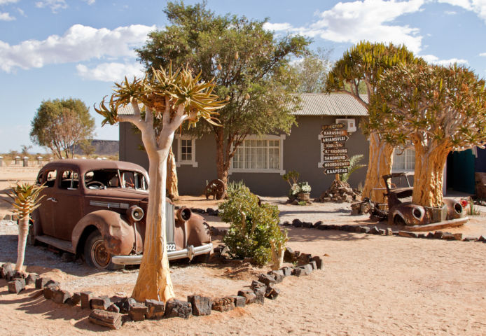
[[321, 127], [321, 142], [324, 147], [324, 174], [336, 174], [336, 179], [339, 180], [339, 174], [348, 172], [349, 157], [347, 155], [347, 148], [345, 148], [346, 141], [349, 139], [347, 130], [343, 130], [344, 124], [322, 125]]

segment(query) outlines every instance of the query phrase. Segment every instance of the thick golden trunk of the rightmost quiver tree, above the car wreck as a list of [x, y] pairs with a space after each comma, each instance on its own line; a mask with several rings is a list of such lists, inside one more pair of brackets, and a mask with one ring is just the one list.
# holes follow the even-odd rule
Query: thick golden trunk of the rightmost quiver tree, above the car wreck
[[443, 177], [449, 149], [415, 145], [415, 174], [412, 203], [422, 207], [440, 207], [443, 198]]

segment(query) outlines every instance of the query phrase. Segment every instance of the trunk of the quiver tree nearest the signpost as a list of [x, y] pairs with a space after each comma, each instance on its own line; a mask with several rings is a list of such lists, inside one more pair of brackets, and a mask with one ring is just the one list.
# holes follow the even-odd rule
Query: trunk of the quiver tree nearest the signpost
[[[382, 176], [391, 174], [393, 166], [394, 147], [385, 141], [380, 141], [376, 132], [370, 134], [370, 154], [368, 158], [368, 171], [361, 197], [370, 197], [370, 200], [377, 203], [384, 203], [385, 189]], [[382, 190], [373, 190], [383, 188]]]

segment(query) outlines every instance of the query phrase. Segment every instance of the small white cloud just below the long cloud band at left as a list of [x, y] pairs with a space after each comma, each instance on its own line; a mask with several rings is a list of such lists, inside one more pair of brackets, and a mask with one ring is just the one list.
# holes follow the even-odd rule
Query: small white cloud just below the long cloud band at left
[[102, 63], [89, 69], [83, 64], [76, 65], [76, 70], [81, 78], [89, 80], [102, 80], [104, 82], [119, 82], [125, 76], [128, 79], [133, 76], [143, 77], [145, 73], [144, 66], [140, 63]]

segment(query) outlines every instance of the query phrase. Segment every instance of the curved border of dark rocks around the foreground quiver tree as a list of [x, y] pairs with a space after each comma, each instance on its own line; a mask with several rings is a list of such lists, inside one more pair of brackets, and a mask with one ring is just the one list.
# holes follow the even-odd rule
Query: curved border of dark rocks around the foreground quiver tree
[[8, 291], [18, 294], [26, 286], [35, 284], [35, 288], [42, 290], [46, 300], [53, 300], [59, 304], [71, 307], [81, 305], [82, 309], [91, 309], [89, 321], [107, 328], [118, 330], [127, 321], [144, 321], [146, 319], [159, 320], [162, 318], [189, 316], [204, 316], [211, 314], [211, 310], [230, 311], [236, 307], [245, 307], [247, 304], [264, 304], [265, 298], [275, 300], [280, 290], [275, 287], [286, 276], [305, 276], [315, 269], [322, 269], [323, 262], [318, 256], [294, 252], [287, 248], [285, 260], [296, 262], [298, 266], [282, 267], [268, 274], [260, 274], [257, 280], [251, 281], [249, 288], [243, 288], [237, 295], [228, 295], [211, 299], [202, 295], [189, 295], [187, 301], [145, 300], [137, 302], [131, 297], [95, 296], [90, 291], [70, 293], [61, 289], [61, 283], [36, 273], [24, 273], [14, 270], [11, 262], [0, 266], [0, 277], [6, 279]]

